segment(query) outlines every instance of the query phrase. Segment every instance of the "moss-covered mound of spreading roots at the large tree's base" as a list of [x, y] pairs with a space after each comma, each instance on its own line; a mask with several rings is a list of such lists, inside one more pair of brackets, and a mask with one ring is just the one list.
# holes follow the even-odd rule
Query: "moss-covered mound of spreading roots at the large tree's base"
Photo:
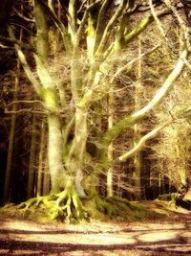
[[32, 221], [80, 222], [96, 219], [117, 221], [140, 219], [142, 209], [138, 203], [124, 198], [102, 198], [95, 194], [91, 198], [79, 198], [74, 187], [68, 187], [57, 194], [30, 198], [18, 205], [7, 205], [4, 212], [11, 216], [22, 217]]

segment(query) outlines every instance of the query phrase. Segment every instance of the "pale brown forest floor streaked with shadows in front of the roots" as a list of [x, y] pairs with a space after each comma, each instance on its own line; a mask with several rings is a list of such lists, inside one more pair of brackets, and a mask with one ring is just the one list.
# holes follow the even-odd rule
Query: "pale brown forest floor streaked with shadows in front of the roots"
[[191, 213], [147, 201], [162, 219], [39, 223], [0, 215], [0, 255], [170, 256], [191, 255]]

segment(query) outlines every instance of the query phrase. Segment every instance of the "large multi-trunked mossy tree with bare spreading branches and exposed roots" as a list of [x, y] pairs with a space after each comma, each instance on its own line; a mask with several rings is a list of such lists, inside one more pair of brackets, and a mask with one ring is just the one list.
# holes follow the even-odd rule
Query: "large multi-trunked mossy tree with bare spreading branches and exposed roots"
[[[26, 28], [26, 38], [21, 42], [17, 38], [17, 27], [10, 23], [10, 37], [1, 40], [13, 43], [47, 116], [52, 187], [47, 197], [24, 202], [24, 209], [33, 203], [43, 203], [53, 218], [64, 215], [78, 219], [87, 216], [82, 202], [92, 200], [98, 209], [113, 214], [111, 200], [100, 198], [96, 191], [98, 176], [106, 173], [117, 160], [108, 160], [108, 149], [122, 132], [161, 103], [179, 78], [189, 53], [188, 23], [183, 7], [171, 7], [161, 1], [150, 1], [149, 6], [145, 1], [127, 0], [35, 0], [31, 5], [23, 3], [22, 9], [17, 10], [25, 22], [29, 20], [31, 33], [35, 35], [27, 35], [29, 29]], [[31, 11], [35, 28], [33, 20], [25, 16], [26, 10]], [[180, 30], [180, 43], [175, 50], [159, 21], [171, 13], [178, 20]], [[153, 21], [163, 36], [163, 43], [174, 54], [174, 66], [169, 74], [165, 73], [166, 78], [147, 104], [97, 132], [100, 122], [97, 111], [101, 112], [106, 105], [108, 92], [115, 92], [119, 78], [129, 72], [135, 62], [159, 49], [160, 45], [154, 40], [152, 49], [142, 52], [138, 58], [128, 62], [124, 58], [128, 57], [128, 49], [138, 35]], [[90, 151], [90, 144], [94, 144], [94, 152]], [[117, 161], [124, 159], [126, 156], [122, 155]]]

